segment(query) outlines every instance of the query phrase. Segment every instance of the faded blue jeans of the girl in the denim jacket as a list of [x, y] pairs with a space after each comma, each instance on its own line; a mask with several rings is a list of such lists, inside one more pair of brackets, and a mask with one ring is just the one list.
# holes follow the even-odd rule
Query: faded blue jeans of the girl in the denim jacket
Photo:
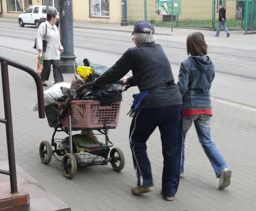
[[182, 161], [180, 173], [184, 173], [184, 149], [185, 149], [185, 138], [186, 134], [191, 127], [193, 121], [195, 124], [196, 132], [198, 139], [209, 158], [212, 167], [216, 173], [216, 177], [219, 177], [219, 174], [223, 168], [228, 168], [226, 161], [221, 156], [215, 144], [211, 141], [210, 135], [210, 123], [211, 115], [209, 114], [195, 114], [183, 117], [183, 145], [182, 145]]

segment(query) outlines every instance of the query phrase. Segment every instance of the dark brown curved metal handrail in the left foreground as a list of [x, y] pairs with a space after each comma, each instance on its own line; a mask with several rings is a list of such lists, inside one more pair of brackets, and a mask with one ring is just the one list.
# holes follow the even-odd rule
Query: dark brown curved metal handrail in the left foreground
[[7, 138], [7, 152], [8, 152], [8, 162], [9, 162], [9, 171], [1, 170], [1, 174], [6, 174], [10, 176], [10, 186], [11, 193], [18, 193], [17, 188], [17, 176], [16, 176], [16, 166], [15, 166], [15, 154], [14, 154], [14, 140], [13, 140], [13, 123], [12, 123], [12, 112], [11, 112], [11, 101], [10, 101], [10, 85], [9, 85], [9, 75], [8, 75], [8, 65], [18, 68], [27, 72], [31, 75], [35, 82], [37, 88], [37, 100], [38, 100], [38, 114], [39, 118], [45, 118], [44, 112], [44, 90], [42, 87], [42, 82], [37, 73], [28, 67], [27, 65], [22, 64], [21, 62], [9, 59], [7, 57], [0, 55], [1, 63], [1, 75], [2, 75], [2, 85], [3, 85], [3, 100], [4, 100], [4, 114], [5, 118], [0, 118], [1, 123], [5, 123], [6, 128], [6, 138]]

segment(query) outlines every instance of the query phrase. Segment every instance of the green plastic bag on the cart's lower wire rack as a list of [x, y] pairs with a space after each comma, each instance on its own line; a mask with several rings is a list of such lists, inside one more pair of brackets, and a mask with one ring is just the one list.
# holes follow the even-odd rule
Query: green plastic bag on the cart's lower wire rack
[[[102, 142], [97, 141], [96, 139], [92, 138], [91, 136], [89, 136], [87, 134], [77, 135], [74, 137], [74, 139], [77, 142], [77, 144], [79, 144], [83, 147], [106, 146]], [[73, 140], [73, 142], [74, 142], [74, 140]], [[75, 142], [74, 142], [74, 145], [76, 146], [77, 153], [79, 153], [79, 152], [97, 152], [102, 149], [102, 148], [93, 148], [93, 149], [83, 148], [83, 147], [77, 146]]]

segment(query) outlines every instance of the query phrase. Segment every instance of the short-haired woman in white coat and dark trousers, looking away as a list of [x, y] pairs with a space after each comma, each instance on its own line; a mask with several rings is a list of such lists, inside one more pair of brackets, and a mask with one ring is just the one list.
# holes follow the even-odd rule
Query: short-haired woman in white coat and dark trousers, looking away
[[[63, 47], [60, 43], [60, 35], [58, 32], [58, 28], [55, 25], [57, 21], [56, 17], [57, 13], [53, 10], [48, 10], [47, 12], [47, 21], [42, 23], [38, 27], [37, 31], [37, 47], [36, 49], [39, 52], [42, 52], [43, 68], [41, 74], [42, 85], [47, 87], [45, 81], [49, 80], [51, 65], [53, 69], [53, 78], [55, 83], [59, 83], [64, 81], [62, 73], [60, 71], [60, 53], [63, 52]], [[47, 27], [47, 47], [46, 52], [43, 52], [43, 39], [45, 39], [45, 31]]]

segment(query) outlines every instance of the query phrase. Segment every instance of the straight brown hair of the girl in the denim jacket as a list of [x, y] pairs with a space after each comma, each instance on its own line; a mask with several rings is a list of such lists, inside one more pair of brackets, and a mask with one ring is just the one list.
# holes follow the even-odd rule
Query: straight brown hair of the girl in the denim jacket
[[201, 32], [194, 32], [187, 37], [187, 52], [191, 56], [203, 56], [207, 54], [207, 45]]

